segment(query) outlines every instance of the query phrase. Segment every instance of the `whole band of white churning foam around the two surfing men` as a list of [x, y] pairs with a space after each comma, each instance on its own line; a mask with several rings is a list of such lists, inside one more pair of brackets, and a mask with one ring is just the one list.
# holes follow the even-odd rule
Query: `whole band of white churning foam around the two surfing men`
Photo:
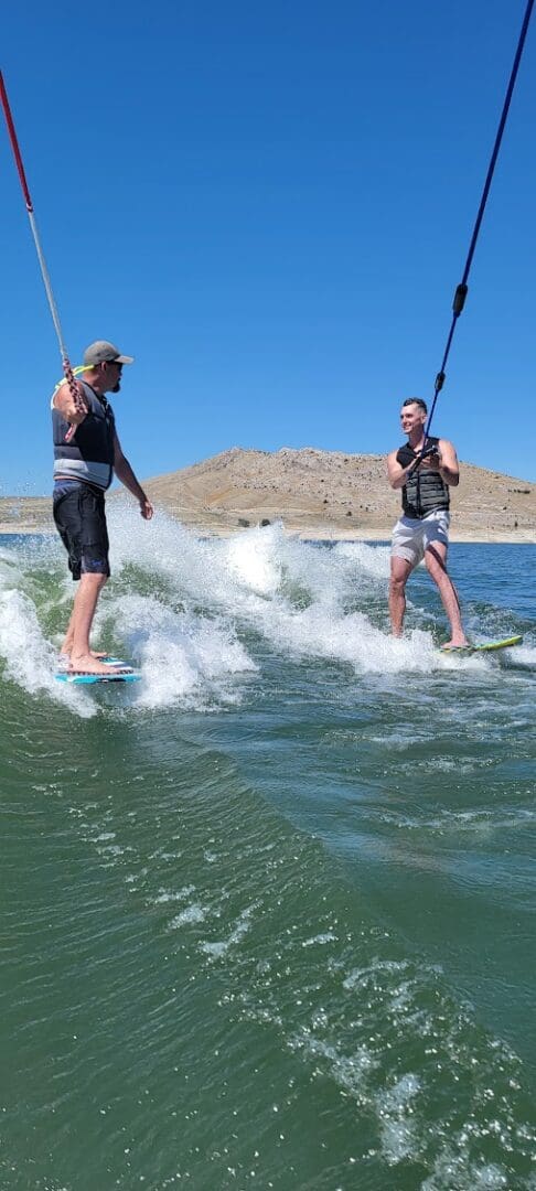
[[[204, 709], [239, 701], [245, 675], [258, 673], [257, 641], [283, 657], [326, 660], [356, 674], [441, 675], [463, 668], [476, 680], [498, 669], [492, 656], [441, 655], [424, 609], [417, 609], [419, 626], [401, 640], [391, 636], [386, 547], [319, 549], [286, 537], [278, 524], [202, 541], [164, 513], [144, 523], [121, 503], [110, 509], [110, 530], [112, 580], [99, 605], [95, 644], [105, 638], [110, 648], [113, 641], [113, 649], [142, 671], [144, 682], [129, 692], [130, 706]], [[43, 567], [46, 591], [33, 582]], [[2, 551], [0, 594], [0, 650], [10, 676], [31, 693], [46, 690], [76, 713], [91, 715], [94, 698], [54, 682], [54, 648], [40, 626], [60, 605], [67, 618], [73, 596], [60, 542], [51, 536], [18, 544], [15, 554]], [[60, 640], [55, 634], [56, 646]], [[530, 668], [536, 649], [518, 647], [512, 661]]]

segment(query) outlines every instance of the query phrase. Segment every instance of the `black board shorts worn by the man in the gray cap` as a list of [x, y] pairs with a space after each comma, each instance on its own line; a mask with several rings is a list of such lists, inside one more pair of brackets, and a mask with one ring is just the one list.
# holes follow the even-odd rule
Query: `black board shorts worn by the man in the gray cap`
[[110, 575], [105, 495], [77, 480], [56, 480], [52, 497], [56, 529], [69, 555], [73, 579]]

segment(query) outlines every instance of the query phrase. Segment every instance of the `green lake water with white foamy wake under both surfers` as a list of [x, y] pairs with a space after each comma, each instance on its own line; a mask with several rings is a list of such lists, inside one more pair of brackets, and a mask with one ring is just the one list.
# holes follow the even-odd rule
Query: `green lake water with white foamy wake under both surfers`
[[536, 1187], [536, 547], [453, 545], [388, 635], [385, 544], [111, 517], [95, 644], [0, 540], [0, 1186]]

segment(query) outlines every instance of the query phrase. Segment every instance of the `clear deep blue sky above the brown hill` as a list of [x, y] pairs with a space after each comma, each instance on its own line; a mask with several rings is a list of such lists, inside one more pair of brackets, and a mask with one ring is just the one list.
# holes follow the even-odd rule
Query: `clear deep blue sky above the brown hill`
[[[434, 393], [524, 7], [10, 7], [64, 338], [73, 363], [95, 338], [136, 356], [114, 409], [139, 478], [233, 445], [398, 444], [400, 401]], [[531, 27], [435, 419], [462, 460], [531, 480], [535, 124]], [[45, 493], [61, 364], [0, 131], [0, 494]]]

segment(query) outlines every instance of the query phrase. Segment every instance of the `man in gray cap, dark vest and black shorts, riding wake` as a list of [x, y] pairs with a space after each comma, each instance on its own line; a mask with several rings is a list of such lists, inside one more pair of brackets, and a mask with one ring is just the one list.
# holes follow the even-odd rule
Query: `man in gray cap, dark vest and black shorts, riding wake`
[[63, 381], [54, 393], [54, 519], [69, 555], [73, 579], [80, 580], [73, 613], [62, 646], [69, 671], [110, 674], [116, 669], [99, 660], [89, 647], [89, 634], [100, 592], [110, 575], [105, 492], [113, 475], [139, 504], [144, 520], [152, 505], [125, 459], [106, 393], [119, 393], [124, 364], [133, 363], [113, 343], [98, 339], [83, 354], [81, 375], [73, 393]]

